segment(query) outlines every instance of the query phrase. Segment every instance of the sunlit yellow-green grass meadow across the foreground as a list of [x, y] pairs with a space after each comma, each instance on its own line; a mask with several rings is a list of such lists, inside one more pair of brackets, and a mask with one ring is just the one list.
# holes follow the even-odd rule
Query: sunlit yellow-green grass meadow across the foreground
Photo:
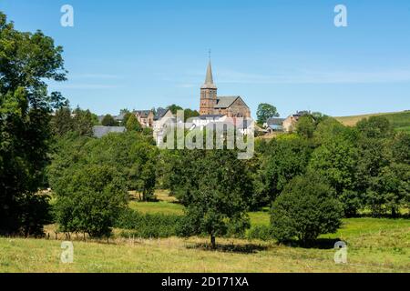
[[[181, 214], [172, 199], [131, 202], [145, 213]], [[269, 224], [267, 209], [251, 213], [251, 225]], [[62, 237], [61, 240], [63, 239]], [[217, 239], [74, 240], [74, 263], [60, 262], [61, 240], [0, 238], [0, 272], [410, 272], [408, 219], [350, 218], [337, 234], [324, 235], [312, 248], [278, 246], [275, 242]], [[334, 242], [348, 244], [348, 264], [333, 262]]]

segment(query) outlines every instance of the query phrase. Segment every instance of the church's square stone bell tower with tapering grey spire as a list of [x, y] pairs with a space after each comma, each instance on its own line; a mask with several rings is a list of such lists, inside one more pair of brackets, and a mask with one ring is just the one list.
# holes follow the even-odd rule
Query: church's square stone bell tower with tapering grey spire
[[213, 84], [212, 65], [208, 65], [205, 84], [200, 87], [200, 115], [213, 115], [218, 88]]

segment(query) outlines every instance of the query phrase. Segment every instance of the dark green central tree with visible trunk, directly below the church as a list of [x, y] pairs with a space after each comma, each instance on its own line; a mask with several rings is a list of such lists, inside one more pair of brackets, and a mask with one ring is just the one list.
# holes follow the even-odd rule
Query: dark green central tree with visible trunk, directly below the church
[[[182, 168], [179, 176], [183, 189], [185, 217], [179, 235], [206, 234], [216, 247], [216, 237], [229, 230], [240, 234], [249, 227], [247, 210], [251, 193], [251, 177], [245, 162], [237, 159], [235, 151], [183, 151], [185, 159], [193, 160]], [[182, 164], [184, 165], [184, 164]]]

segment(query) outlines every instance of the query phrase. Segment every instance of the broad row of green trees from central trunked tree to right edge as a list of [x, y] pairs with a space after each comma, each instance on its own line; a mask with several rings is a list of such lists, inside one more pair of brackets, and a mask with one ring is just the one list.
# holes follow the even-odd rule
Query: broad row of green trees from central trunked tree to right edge
[[343, 216], [398, 216], [410, 203], [410, 135], [384, 117], [354, 127], [316, 114], [296, 133], [260, 140], [252, 160], [234, 151], [163, 153], [163, 186], [186, 206], [181, 235], [214, 237], [249, 226], [246, 213], [272, 206], [272, 236], [303, 244], [333, 233]]

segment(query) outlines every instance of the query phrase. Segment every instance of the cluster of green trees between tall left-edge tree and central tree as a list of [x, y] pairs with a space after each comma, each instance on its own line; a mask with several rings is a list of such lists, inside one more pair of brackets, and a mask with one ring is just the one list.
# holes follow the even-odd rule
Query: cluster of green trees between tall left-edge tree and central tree
[[136, 131], [101, 139], [67, 134], [58, 139], [47, 167], [56, 196], [54, 214], [64, 232], [108, 236], [128, 207], [128, 191], [154, 196], [158, 149]]

